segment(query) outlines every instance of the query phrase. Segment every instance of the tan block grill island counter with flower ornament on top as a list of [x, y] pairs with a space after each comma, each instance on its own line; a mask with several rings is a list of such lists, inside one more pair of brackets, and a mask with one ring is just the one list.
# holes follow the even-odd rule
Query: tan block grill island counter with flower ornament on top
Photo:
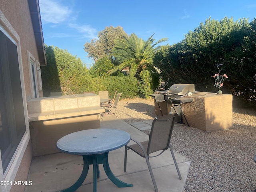
[[205, 131], [232, 128], [231, 94], [196, 91], [186, 97], [194, 98], [194, 102], [183, 104], [183, 112], [190, 126]]

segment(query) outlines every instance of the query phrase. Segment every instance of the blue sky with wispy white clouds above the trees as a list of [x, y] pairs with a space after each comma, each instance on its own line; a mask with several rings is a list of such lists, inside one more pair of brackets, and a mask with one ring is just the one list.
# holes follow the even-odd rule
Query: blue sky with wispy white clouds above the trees
[[106, 26], [121, 26], [127, 34], [147, 40], [168, 38], [178, 43], [207, 18], [221, 20], [256, 17], [255, 0], [40, 0], [44, 43], [68, 50], [88, 68], [84, 44]]

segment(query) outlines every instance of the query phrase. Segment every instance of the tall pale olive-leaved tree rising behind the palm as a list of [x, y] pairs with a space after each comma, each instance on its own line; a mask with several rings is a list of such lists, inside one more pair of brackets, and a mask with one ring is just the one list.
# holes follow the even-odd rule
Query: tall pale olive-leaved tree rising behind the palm
[[93, 58], [95, 61], [106, 56], [111, 58], [114, 40], [122, 39], [123, 36], [127, 37], [128, 35], [122, 27], [106, 27], [98, 33], [98, 39], [92, 39], [91, 42], [84, 44], [84, 50], [88, 53], [87, 57]]

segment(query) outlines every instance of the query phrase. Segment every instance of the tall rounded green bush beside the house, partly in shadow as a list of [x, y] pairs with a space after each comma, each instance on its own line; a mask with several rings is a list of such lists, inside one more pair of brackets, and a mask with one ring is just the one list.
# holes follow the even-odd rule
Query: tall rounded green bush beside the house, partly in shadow
[[46, 58], [47, 66], [41, 69], [44, 96], [50, 96], [50, 92], [78, 94], [95, 87], [96, 83], [80, 58], [72, 56], [67, 50], [46, 46]]

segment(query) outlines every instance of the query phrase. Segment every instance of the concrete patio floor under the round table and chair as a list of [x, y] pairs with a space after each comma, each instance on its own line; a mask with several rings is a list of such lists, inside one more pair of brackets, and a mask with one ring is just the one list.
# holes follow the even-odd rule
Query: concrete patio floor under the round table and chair
[[[104, 116], [104, 120], [101, 120], [100, 125], [101, 128], [124, 130], [138, 141], [148, 139], [146, 134], [116, 116]], [[129, 144], [132, 144], [132, 142]], [[184, 189], [190, 168], [190, 160], [175, 151], [174, 154], [182, 180], [179, 180], [170, 150], [158, 157], [150, 158], [159, 192], [182, 192]], [[98, 192], [154, 192], [146, 160], [131, 150], [128, 150], [127, 156], [127, 172], [123, 170], [124, 147], [109, 152], [109, 165], [118, 179], [134, 186], [118, 188], [107, 178], [103, 166], [100, 164], [100, 178], [98, 178], [97, 182]], [[32, 185], [26, 186], [24, 192], [59, 192], [64, 190], [78, 180], [82, 172], [82, 164], [82, 156], [64, 153], [34, 157], [28, 175], [28, 181], [32, 181]], [[92, 166], [89, 168], [86, 180], [76, 190], [76, 192], [85, 191], [93, 191]]]

